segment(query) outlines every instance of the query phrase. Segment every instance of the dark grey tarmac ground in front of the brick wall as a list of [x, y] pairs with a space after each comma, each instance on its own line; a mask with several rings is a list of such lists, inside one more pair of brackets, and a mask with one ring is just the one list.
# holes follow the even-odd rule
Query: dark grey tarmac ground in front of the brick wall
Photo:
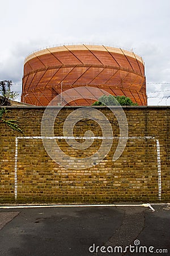
[[170, 205], [0, 206], [0, 255], [170, 255]]

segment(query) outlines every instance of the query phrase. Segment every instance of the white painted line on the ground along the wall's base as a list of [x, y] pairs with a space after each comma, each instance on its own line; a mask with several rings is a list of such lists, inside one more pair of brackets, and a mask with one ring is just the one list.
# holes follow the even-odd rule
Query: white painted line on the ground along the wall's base
[[5, 205], [0, 209], [16, 209], [16, 208], [67, 208], [67, 207], [149, 207], [155, 211], [150, 204], [40, 204], [40, 205]]

